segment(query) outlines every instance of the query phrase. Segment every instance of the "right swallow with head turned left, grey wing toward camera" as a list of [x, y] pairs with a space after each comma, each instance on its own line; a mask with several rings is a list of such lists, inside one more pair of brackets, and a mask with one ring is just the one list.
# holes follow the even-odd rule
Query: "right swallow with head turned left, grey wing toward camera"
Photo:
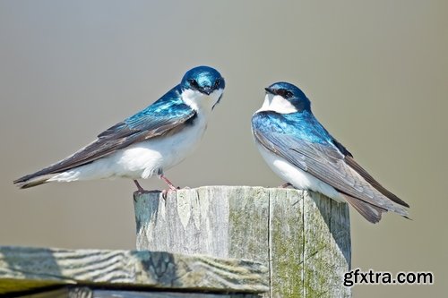
[[302, 90], [288, 82], [265, 90], [263, 106], [252, 117], [252, 132], [275, 174], [298, 189], [349, 202], [371, 223], [386, 211], [408, 217], [409, 205], [369, 175], [323, 128]]

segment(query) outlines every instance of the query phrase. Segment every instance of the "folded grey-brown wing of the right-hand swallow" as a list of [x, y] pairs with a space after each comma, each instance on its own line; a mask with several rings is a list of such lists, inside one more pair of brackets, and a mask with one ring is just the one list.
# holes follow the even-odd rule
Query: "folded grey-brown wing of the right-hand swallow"
[[[254, 115], [254, 117], [256, 116]], [[266, 125], [264, 127], [256, 125], [262, 119], [263, 115], [259, 115], [258, 119], [253, 120], [253, 132], [255, 140], [262, 144], [264, 148], [280, 158], [286, 159], [303, 171], [314, 175], [314, 177], [331, 185], [343, 194], [363, 200], [384, 211], [392, 210], [403, 216], [407, 215], [406, 209], [394, 205], [392, 200], [389, 200], [382, 192], [368, 183], [368, 179], [366, 180], [360, 175], [357, 169], [349, 166], [350, 164], [354, 165], [354, 160], [347, 149], [343, 148], [336, 140], [333, 143], [303, 140], [278, 128], [271, 127], [269, 129], [266, 128]], [[316, 130], [308, 133], [317, 132]], [[323, 132], [326, 131], [323, 130]], [[344, 151], [342, 153], [341, 148], [347, 153]], [[346, 162], [346, 158], [351, 158], [349, 163]], [[364, 172], [366, 171], [364, 170]], [[370, 175], [368, 177], [373, 180]]]

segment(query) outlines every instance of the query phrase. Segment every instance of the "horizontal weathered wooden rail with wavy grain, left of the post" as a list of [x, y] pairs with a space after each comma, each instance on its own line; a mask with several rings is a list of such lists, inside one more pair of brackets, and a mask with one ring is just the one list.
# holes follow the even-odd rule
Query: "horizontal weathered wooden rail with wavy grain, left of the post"
[[0, 247], [0, 294], [50, 285], [258, 293], [266, 275], [261, 263], [202, 255]]

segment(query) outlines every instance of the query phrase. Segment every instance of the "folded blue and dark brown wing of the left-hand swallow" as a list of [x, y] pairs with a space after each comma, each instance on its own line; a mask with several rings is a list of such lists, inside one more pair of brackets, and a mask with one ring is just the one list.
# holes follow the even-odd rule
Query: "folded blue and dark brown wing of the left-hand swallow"
[[190, 124], [195, 116], [194, 109], [185, 105], [180, 98], [180, 90], [171, 89], [151, 106], [101, 132], [97, 140], [70, 157], [36, 173], [23, 176], [14, 183], [23, 183], [40, 175], [61, 173], [104, 158], [117, 149], [123, 149], [136, 142], [177, 132]]

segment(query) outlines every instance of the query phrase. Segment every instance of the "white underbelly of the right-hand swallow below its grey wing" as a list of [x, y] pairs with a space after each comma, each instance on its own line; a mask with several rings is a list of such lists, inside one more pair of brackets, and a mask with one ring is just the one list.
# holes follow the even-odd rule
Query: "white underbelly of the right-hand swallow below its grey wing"
[[333, 200], [345, 202], [345, 199], [340, 192], [336, 191], [331, 185], [324, 183], [314, 177], [314, 175], [311, 175], [297, 166], [290, 164], [286, 159], [280, 158], [279, 156], [273, 154], [268, 149], [265, 149], [263, 145], [259, 144], [256, 140], [255, 143], [264, 160], [268, 166], [271, 167], [271, 170], [276, 175], [279, 175], [284, 181], [291, 183], [297, 189], [320, 192]]

